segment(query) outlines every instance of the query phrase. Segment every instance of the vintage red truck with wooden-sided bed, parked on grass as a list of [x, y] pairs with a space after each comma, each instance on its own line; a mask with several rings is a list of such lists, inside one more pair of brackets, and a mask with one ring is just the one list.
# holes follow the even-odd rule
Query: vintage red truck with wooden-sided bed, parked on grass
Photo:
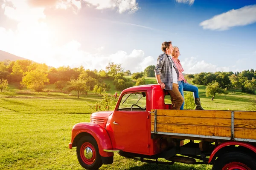
[[172, 110], [159, 85], [134, 86], [121, 92], [114, 111], [95, 112], [90, 123], [76, 124], [72, 147], [88, 170], [113, 163], [115, 152], [149, 163], [256, 170], [256, 112]]

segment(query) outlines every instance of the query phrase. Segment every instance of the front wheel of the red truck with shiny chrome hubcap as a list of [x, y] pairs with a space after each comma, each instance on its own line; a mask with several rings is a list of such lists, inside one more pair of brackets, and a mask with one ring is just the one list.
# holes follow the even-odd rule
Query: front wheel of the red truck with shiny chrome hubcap
[[84, 136], [78, 141], [76, 156], [79, 164], [85, 169], [97, 170], [102, 166], [98, 144], [91, 136]]

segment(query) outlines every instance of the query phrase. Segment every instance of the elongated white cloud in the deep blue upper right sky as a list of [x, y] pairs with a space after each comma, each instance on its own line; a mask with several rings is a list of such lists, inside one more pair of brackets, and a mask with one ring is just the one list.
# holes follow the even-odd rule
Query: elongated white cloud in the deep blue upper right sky
[[203, 29], [223, 31], [233, 26], [245, 26], [255, 22], [256, 5], [251, 5], [215, 15], [211, 19], [201, 22], [199, 25], [203, 26]]

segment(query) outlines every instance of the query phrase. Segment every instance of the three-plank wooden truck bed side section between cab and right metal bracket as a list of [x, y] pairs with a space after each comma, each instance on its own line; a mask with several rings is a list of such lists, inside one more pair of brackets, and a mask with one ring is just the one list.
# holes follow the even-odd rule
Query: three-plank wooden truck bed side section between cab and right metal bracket
[[[158, 109], [156, 129], [165, 133], [231, 138], [231, 111]], [[154, 131], [154, 113], [151, 113], [151, 131]]]

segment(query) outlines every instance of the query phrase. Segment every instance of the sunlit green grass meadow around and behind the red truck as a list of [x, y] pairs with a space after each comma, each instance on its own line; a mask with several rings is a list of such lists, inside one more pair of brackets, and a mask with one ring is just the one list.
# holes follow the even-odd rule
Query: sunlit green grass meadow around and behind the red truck
[[[146, 78], [155, 84], [155, 78]], [[111, 83], [108, 80], [107, 83]], [[197, 85], [204, 109], [247, 110], [255, 95], [230, 90], [216, 95], [214, 101], [205, 96], [205, 86]], [[115, 92], [111, 86], [110, 94]], [[118, 92], [120, 94], [120, 92]], [[69, 149], [72, 127], [89, 122], [89, 105], [101, 96], [88, 92], [77, 98], [76, 92], [64, 94], [53, 85], [44, 92], [16, 89], [15, 84], [0, 93], [0, 170], [83, 170], [76, 158], [76, 148]], [[100, 170], [211, 170], [212, 165], [173, 165], [143, 163], [139, 158], [114, 155], [114, 162]]]

